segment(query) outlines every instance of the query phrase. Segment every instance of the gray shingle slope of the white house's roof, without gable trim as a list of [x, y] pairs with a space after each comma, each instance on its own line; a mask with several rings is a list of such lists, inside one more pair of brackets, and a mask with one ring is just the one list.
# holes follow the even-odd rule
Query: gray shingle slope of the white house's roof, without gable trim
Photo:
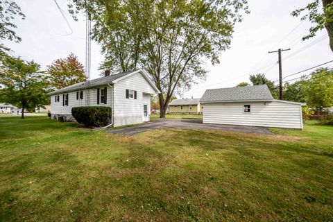
[[[119, 72], [118, 74], [110, 75], [110, 76], [107, 76], [107, 77], [92, 79], [92, 80], [89, 81], [90, 82], [90, 87], [96, 87], [96, 86], [99, 86], [99, 85], [106, 85], [108, 83], [112, 83], [112, 81], [114, 81], [118, 78], [121, 78], [123, 76], [126, 76], [128, 74], [131, 74], [134, 71], [137, 71], [137, 70], [123, 71], [123, 72]], [[78, 89], [85, 89], [86, 85], [87, 85], [87, 82], [76, 83], [74, 85], [69, 85], [65, 88], [58, 89], [56, 91], [50, 92], [49, 95], [51, 96], [51, 95], [56, 95], [56, 94], [60, 94], [60, 93], [63, 93], [63, 92], [72, 92], [72, 91], [76, 91]]]

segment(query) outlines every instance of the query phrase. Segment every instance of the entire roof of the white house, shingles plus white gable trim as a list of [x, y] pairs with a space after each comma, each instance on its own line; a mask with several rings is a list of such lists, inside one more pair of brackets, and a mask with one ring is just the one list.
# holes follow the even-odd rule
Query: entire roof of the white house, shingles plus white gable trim
[[[131, 76], [132, 74], [137, 74], [139, 72], [141, 72], [143, 74], [144, 78], [146, 78], [148, 83], [151, 84], [153, 89], [155, 89], [156, 92], [159, 92], [158, 89], [156, 88], [156, 86], [151, 82], [151, 80], [148, 78], [148, 76], [146, 76], [146, 74], [144, 73], [144, 71], [142, 69], [135, 69], [133, 71], [123, 71], [123, 72], [119, 72], [118, 74], [113, 74], [113, 75], [106, 76], [106, 77], [104, 76], [101, 78], [95, 78], [95, 79], [89, 80], [89, 85], [90, 85], [90, 88], [92, 88], [92, 87], [96, 87], [96, 86], [100, 86], [100, 85], [116, 83], [117, 80], [121, 80], [123, 78]], [[52, 95], [61, 94], [64, 92], [72, 92], [72, 91], [76, 91], [78, 89], [86, 89], [86, 88], [87, 88], [87, 82], [81, 82], [81, 83], [69, 85], [62, 89], [58, 89], [56, 91], [50, 92], [48, 95], [52, 96]]]

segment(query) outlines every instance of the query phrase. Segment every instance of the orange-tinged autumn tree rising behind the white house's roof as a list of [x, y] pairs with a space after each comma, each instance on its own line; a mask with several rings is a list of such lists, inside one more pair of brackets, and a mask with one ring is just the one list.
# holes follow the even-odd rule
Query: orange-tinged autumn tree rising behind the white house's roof
[[65, 59], [55, 60], [48, 66], [47, 73], [50, 75], [51, 85], [56, 89], [85, 81], [85, 69], [73, 53]]

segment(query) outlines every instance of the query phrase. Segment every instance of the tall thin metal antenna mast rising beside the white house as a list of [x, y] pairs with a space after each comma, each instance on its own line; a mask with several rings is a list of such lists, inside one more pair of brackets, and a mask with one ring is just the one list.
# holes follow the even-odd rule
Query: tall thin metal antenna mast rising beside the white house
[[85, 105], [90, 106], [90, 64], [92, 60], [92, 37], [91, 37], [92, 24], [89, 19], [89, 14], [86, 15], [85, 21], [85, 77], [86, 77], [86, 90], [85, 90]]

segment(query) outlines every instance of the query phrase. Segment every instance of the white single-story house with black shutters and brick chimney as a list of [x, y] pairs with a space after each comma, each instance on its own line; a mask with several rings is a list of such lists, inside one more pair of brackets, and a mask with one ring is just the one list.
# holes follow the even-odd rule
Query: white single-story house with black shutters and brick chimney
[[[89, 89], [88, 89], [89, 86]], [[113, 126], [149, 121], [151, 94], [159, 93], [142, 69], [126, 71], [76, 83], [49, 93], [51, 117], [71, 116], [71, 108], [78, 106], [110, 106]]]

